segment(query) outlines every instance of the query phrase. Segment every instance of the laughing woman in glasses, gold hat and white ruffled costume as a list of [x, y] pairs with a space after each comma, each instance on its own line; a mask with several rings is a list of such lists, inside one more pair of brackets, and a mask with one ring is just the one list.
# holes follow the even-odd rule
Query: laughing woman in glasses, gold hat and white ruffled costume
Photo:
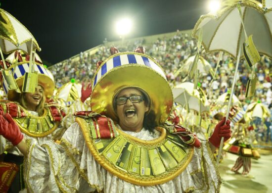
[[[27, 156], [28, 191], [218, 192], [210, 146], [230, 137], [229, 122], [220, 122], [209, 142], [167, 124], [173, 96], [159, 64], [143, 48], [112, 52], [92, 81], [93, 111], [75, 114], [60, 145], [18, 144]], [[5, 129], [12, 122], [0, 121], [0, 134], [14, 140]]]

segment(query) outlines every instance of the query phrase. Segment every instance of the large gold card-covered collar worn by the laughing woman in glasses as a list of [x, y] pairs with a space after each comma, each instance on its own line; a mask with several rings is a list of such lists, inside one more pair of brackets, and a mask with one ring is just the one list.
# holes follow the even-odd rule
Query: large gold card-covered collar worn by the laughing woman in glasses
[[76, 122], [95, 160], [114, 176], [132, 184], [154, 186], [171, 181], [193, 156], [192, 146], [183, 145], [178, 136], [163, 127], [156, 128], [161, 136], [151, 141], [139, 140], [116, 126], [115, 137], [93, 139], [93, 121], [77, 117]]

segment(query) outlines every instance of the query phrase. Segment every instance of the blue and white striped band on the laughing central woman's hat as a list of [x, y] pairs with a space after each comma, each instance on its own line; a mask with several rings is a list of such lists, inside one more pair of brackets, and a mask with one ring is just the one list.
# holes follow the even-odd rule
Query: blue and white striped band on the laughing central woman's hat
[[138, 64], [148, 66], [151, 69], [155, 70], [159, 73], [162, 77], [166, 79], [166, 76], [162, 70], [162, 68], [156, 64], [156, 61], [148, 57], [147, 55], [135, 53], [135, 52], [125, 52], [122, 54], [115, 54], [112, 57], [109, 57], [106, 61], [101, 64], [101, 67], [97, 70], [94, 80], [93, 80], [93, 87], [96, 85], [97, 82], [106, 74], [108, 71], [112, 70], [113, 68], [130, 65], [130, 64]]

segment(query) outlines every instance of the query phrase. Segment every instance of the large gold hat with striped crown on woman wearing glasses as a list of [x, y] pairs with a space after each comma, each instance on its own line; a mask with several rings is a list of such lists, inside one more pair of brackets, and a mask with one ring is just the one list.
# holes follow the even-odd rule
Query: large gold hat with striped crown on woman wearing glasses
[[92, 80], [91, 109], [117, 122], [113, 98], [128, 87], [148, 95], [156, 125], [166, 121], [173, 105], [170, 85], [157, 61], [138, 52], [116, 53], [103, 61]]

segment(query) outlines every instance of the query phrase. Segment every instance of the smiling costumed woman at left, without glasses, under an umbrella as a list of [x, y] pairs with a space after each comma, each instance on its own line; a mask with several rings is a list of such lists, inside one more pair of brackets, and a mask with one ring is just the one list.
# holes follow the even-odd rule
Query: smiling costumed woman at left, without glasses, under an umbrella
[[[29, 71], [28, 56], [21, 55], [23, 52], [14, 52], [7, 57], [7, 62], [11, 63], [9, 69], [14, 71], [15, 81], [22, 89], [22, 83], [25, 72]], [[17, 54], [19, 54], [17, 56]], [[19, 61], [16, 61], [16, 56]], [[60, 139], [64, 133], [64, 128], [60, 126], [60, 121], [65, 116], [65, 113], [54, 104], [47, 105], [45, 99], [51, 97], [54, 90], [54, 79], [51, 73], [41, 64], [40, 58], [36, 58], [35, 68], [38, 71], [38, 86], [34, 93], [16, 93], [8, 91], [3, 84], [3, 90], [6, 92], [8, 100], [0, 101], [0, 108], [3, 110], [6, 119], [15, 121], [20, 128], [22, 135], [16, 141], [21, 139], [31, 139], [33, 143], [38, 145], [44, 144], [46, 140]], [[16, 147], [17, 142], [12, 144], [0, 136], [1, 149], [7, 151], [4, 156], [5, 162], [15, 163], [20, 167], [20, 172], [15, 177], [11, 184], [9, 192], [18, 192], [24, 188], [23, 185], [23, 154]], [[21, 174], [20, 174], [21, 173]]]

